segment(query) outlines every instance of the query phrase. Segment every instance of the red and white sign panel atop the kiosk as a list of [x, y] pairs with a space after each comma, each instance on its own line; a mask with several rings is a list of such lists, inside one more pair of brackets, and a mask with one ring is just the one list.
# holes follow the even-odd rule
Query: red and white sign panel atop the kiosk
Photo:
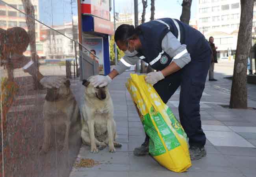
[[91, 14], [96, 17], [110, 20], [109, 0], [81, 0], [82, 14]]

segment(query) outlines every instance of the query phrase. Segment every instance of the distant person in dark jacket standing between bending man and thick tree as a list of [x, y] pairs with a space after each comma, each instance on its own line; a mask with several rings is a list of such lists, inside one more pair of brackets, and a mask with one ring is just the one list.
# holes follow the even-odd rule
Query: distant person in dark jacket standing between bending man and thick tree
[[214, 38], [211, 36], [209, 38], [209, 44], [211, 46], [211, 50], [212, 50], [212, 56], [211, 56], [211, 65], [210, 65], [210, 69], [209, 69], [209, 81], [217, 81], [217, 79], [214, 79], [214, 63], [218, 63], [217, 61], [217, 47], [215, 47], [214, 42]]

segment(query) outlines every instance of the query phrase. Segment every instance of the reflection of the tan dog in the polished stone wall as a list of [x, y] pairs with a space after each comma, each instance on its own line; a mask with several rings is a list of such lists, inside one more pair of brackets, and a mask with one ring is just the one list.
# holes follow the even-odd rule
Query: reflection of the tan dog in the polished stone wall
[[43, 118], [45, 120], [45, 133], [41, 153], [47, 153], [50, 148], [51, 126], [55, 125], [58, 131], [63, 124], [66, 125], [66, 130], [61, 152], [67, 151], [69, 149], [70, 126], [80, 119], [80, 111], [70, 90], [69, 80], [65, 81], [59, 89], [47, 89], [43, 106]]

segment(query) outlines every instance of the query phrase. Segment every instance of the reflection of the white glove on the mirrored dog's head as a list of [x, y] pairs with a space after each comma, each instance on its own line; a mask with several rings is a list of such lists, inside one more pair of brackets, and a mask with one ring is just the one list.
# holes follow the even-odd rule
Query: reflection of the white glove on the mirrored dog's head
[[57, 76], [50, 76], [50, 77], [43, 77], [40, 80], [40, 83], [48, 89], [52, 88], [59, 88], [65, 81], [66, 77], [57, 77]]

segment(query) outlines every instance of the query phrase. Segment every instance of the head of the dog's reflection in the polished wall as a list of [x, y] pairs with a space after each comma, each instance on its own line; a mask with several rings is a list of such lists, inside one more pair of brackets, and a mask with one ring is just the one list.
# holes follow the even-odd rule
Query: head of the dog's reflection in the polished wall
[[66, 80], [57, 88], [47, 89], [45, 100], [57, 101], [60, 98], [67, 98], [71, 94], [70, 81]]

